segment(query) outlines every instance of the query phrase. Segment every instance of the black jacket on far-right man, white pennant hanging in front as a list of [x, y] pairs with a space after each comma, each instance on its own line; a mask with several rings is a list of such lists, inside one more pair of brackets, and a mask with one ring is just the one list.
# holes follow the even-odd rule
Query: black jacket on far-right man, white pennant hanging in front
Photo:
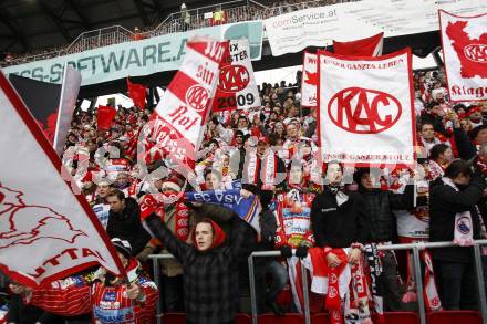
[[[453, 241], [455, 216], [463, 211], [470, 211], [474, 239], [478, 239], [480, 223], [475, 205], [479, 201], [484, 188], [484, 179], [479, 177], [474, 177], [470, 185], [460, 191], [455, 191], [441, 178], [432, 182], [429, 189], [429, 241]], [[432, 251], [434, 260], [463, 263], [473, 261], [472, 248], [444, 248]]]

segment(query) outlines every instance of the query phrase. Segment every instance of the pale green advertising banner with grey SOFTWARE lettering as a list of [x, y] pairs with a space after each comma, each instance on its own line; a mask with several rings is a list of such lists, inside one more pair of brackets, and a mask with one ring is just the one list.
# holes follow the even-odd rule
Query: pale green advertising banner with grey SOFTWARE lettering
[[61, 83], [63, 66], [68, 63], [81, 72], [83, 79], [81, 85], [90, 85], [123, 79], [127, 75], [139, 76], [172, 71], [179, 69], [186, 54], [186, 42], [195, 35], [219, 40], [247, 38], [250, 59], [260, 60], [262, 22], [249, 21], [165, 34], [9, 66], [3, 69], [3, 73], [18, 74], [49, 83]]

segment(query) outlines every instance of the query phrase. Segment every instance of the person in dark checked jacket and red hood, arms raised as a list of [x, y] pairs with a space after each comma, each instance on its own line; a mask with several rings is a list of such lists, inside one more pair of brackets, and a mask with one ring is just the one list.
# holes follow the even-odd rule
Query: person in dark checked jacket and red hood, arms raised
[[[211, 205], [209, 216], [230, 222], [228, 242], [221, 228], [209, 218], [196, 221], [193, 244], [178, 240], [160, 221], [149, 195], [143, 201], [142, 218], [148, 232], [157, 238], [183, 265], [187, 322], [191, 324], [226, 324], [235, 322], [238, 305], [239, 263], [257, 242], [256, 230], [231, 210]], [[196, 207], [193, 207], [196, 208]], [[205, 209], [205, 205], [199, 207]]]

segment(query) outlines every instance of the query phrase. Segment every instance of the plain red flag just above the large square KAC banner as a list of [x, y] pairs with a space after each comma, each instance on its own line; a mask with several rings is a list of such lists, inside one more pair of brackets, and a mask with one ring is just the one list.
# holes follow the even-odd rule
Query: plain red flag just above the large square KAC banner
[[384, 33], [351, 42], [333, 41], [333, 52], [338, 55], [380, 56], [384, 45]]

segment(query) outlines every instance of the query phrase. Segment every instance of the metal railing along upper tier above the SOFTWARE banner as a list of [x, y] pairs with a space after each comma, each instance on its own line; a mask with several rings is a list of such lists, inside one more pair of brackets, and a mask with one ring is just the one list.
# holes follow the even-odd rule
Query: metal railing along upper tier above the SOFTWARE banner
[[[62, 48], [40, 51], [35, 54], [25, 54], [20, 58], [9, 59], [0, 62], [1, 66], [24, 64], [29, 62], [53, 59], [56, 56], [80, 53], [102, 46], [114, 45], [123, 42], [134, 41], [138, 38], [153, 38], [175, 32], [201, 29], [214, 25], [210, 14], [214, 10], [221, 8], [225, 11], [224, 23], [235, 23], [242, 21], [252, 21], [267, 19], [273, 15], [292, 12], [305, 8], [330, 6], [343, 2], [355, 2], [360, 0], [312, 0], [300, 3], [278, 4], [273, 7], [263, 6], [253, 0], [235, 0], [220, 4], [200, 7], [185, 12], [170, 13], [157, 27], [145, 32], [132, 32], [121, 25], [102, 28], [99, 30], [86, 31], [80, 34], [71, 44]], [[185, 22], [184, 14], [189, 13], [188, 23]]]

